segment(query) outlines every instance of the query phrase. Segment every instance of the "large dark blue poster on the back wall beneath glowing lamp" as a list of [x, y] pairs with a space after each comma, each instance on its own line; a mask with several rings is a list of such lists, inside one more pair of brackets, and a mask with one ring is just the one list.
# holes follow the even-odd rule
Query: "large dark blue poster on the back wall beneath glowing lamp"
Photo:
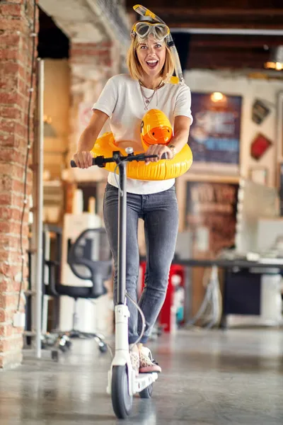
[[[221, 95], [221, 94], [220, 94]], [[241, 132], [241, 96], [192, 93], [189, 145], [194, 162], [238, 165]]]

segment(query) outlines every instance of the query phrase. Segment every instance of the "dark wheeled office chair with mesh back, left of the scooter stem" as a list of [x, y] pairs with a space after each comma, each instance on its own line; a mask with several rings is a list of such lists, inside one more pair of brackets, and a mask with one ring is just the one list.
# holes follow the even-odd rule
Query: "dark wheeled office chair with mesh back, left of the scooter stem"
[[76, 329], [78, 314], [76, 302], [78, 298], [96, 299], [107, 293], [105, 281], [112, 276], [112, 254], [104, 228], [86, 229], [76, 239], [74, 244], [69, 244], [67, 256], [68, 264], [75, 276], [82, 280], [91, 280], [91, 286], [71, 286], [55, 282], [55, 268], [59, 266], [55, 261], [45, 261], [49, 268], [50, 285], [49, 295], [59, 297], [67, 295], [74, 298], [73, 326], [67, 332], [70, 338], [94, 338], [98, 342], [101, 352], [107, 351], [103, 336]]

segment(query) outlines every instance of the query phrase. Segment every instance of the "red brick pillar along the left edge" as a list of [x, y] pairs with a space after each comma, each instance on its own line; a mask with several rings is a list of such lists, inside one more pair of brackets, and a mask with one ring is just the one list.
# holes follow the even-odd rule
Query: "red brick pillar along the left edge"
[[[13, 327], [13, 314], [21, 284], [20, 231], [28, 146], [33, 0], [2, 0], [0, 16], [0, 368], [6, 368], [21, 363], [23, 346], [23, 329]], [[35, 94], [31, 104], [30, 142], [33, 142], [34, 105]], [[31, 182], [28, 171], [28, 193]], [[28, 209], [23, 220], [24, 252], [27, 246]], [[25, 256], [25, 277], [26, 259]]]

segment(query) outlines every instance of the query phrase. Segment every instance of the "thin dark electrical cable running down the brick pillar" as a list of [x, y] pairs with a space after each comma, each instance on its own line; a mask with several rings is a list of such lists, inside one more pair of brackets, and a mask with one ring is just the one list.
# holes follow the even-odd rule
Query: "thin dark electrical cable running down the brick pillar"
[[21, 230], [20, 230], [20, 246], [21, 246], [21, 285], [20, 290], [18, 293], [18, 307], [17, 312], [20, 310], [20, 304], [21, 304], [21, 292], [23, 288], [23, 280], [24, 280], [24, 266], [25, 266], [25, 254], [23, 252], [23, 221], [25, 217], [25, 208], [28, 204], [27, 199], [27, 183], [28, 183], [28, 159], [30, 155], [30, 115], [31, 115], [31, 104], [33, 99], [33, 77], [35, 74], [35, 25], [36, 25], [36, 0], [33, 1], [33, 30], [32, 33], [30, 33], [30, 37], [33, 39], [33, 47], [32, 47], [32, 59], [31, 59], [31, 69], [30, 69], [30, 89], [29, 89], [29, 97], [28, 97], [28, 146], [27, 151], [25, 155], [25, 169], [23, 174], [23, 210], [21, 215]]

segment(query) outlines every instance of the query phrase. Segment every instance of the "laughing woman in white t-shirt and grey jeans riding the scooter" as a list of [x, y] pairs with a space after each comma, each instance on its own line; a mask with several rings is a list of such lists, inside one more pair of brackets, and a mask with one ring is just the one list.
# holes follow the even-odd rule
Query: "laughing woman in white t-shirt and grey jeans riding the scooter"
[[[190, 89], [180, 84], [165, 84], [173, 74], [171, 51], [166, 45], [169, 28], [165, 25], [141, 21], [132, 28], [132, 44], [127, 55], [129, 74], [108, 80], [98, 101], [93, 106], [93, 116], [83, 131], [79, 147], [74, 154], [76, 165], [88, 168], [92, 163], [90, 153], [105, 121], [110, 118], [110, 128], [120, 147], [133, 147], [141, 152], [141, 119], [147, 110], [156, 108], [167, 115], [174, 129], [171, 145], [151, 145], [146, 154], [156, 154], [158, 161], [163, 153], [168, 159], [187, 143], [192, 115]], [[137, 228], [139, 218], [144, 220], [147, 266], [144, 290], [139, 306], [144, 312], [146, 330], [141, 344], [134, 346], [141, 333], [141, 319], [137, 308], [129, 302], [129, 346], [132, 365], [136, 373], [161, 372], [161, 367], [149, 358], [143, 347], [166, 297], [168, 275], [175, 251], [178, 233], [178, 204], [174, 179], [165, 181], [140, 181], [127, 179], [127, 292], [137, 300], [139, 276], [139, 246]], [[117, 285], [117, 204], [118, 188], [115, 175], [110, 173], [104, 197], [104, 221], [112, 255], [115, 261], [114, 288]], [[114, 295], [116, 290], [114, 290]]]

